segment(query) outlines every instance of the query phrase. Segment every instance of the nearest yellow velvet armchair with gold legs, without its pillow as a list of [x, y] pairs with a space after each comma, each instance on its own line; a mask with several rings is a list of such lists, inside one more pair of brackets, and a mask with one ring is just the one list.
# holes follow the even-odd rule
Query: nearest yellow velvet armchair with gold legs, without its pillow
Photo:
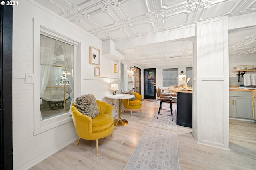
[[96, 155], [98, 155], [98, 139], [104, 138], [111, 134], [114, 129], [114, 119], [112, 117], [113, 106], [104, 101], [96, 100], [99, 115], [91, 119], [87, 115], [83, 115], [75, 107], [74, 103], [71, 106], [71, 115], [78, 135], [77, 146], [80, 138], [85, 140], [96, 140]]

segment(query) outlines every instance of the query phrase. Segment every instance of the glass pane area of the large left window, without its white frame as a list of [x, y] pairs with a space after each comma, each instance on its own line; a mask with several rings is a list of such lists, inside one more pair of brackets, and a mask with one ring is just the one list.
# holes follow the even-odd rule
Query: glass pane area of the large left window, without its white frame
[[42, 120], [69, 112], [74, 91], [74, 46], [40, 35]]

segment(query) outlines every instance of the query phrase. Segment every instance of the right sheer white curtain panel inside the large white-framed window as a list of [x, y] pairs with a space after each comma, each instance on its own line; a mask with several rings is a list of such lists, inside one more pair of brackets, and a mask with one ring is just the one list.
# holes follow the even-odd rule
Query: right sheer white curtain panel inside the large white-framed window
[[62, 42], [62, 50], [64, 55], [64, 61], [66, 65], [66, 70], [68, 73], [68, 79], [70, 83], [70, 88], [72, 90], [71, 96], [71, 103], [74, 102], [74, 46], [69, 45], [67, 43]]

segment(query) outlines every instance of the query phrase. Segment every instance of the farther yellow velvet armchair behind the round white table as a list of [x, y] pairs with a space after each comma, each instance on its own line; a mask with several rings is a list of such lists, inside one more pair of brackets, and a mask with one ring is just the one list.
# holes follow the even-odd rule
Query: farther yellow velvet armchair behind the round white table
[[[123, 101], [123, 105], [124, 105], [124, 111], [125, 109], [140, 109], [142, 104], [141, 104], [141, 100], [142, 100], [142, 95], [140, 95], [139, 93], [133, 92], [134, 96], [135, 96], [135, 100], [130, 101], [129, 99], [122, 99]], [[141, 110], [140, 110], [141, 113]], [[132, 116], [132, 110], [131, 110], [131, 116]]]

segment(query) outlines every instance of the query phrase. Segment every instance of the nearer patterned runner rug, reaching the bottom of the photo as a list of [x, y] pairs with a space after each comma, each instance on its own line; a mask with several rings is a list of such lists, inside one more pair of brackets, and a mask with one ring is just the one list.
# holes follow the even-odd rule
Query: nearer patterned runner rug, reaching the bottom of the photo
[[147, 127], [124, 169], [179, 170], [176, 132]]

